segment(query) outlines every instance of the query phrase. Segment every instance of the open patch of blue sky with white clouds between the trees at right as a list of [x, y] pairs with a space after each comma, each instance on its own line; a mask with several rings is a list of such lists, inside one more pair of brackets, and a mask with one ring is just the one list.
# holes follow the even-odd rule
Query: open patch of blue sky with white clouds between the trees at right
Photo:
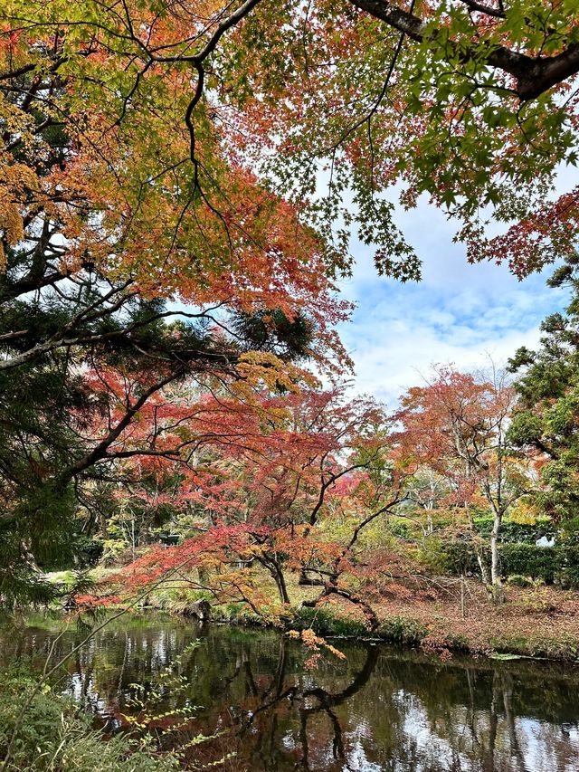
[[518, 281], [506, 266], [469, 265], [464, 246], [452, 243], [453, 225], [431, 205], [399, 222], [423, 258], [422, 281], [379, 277], [372, 249], [353, 243], [354, 276], [340, 285], [356, 302], [353, 319], [340, 327], [356, 364], [356, 392], [394, 407], [434, 363], [470, 369], [490, 356], [504, 364], [519, 346], [533, 348], [541, 320], [565, 306], [565, 292], [546, 287], [552, 269]]

